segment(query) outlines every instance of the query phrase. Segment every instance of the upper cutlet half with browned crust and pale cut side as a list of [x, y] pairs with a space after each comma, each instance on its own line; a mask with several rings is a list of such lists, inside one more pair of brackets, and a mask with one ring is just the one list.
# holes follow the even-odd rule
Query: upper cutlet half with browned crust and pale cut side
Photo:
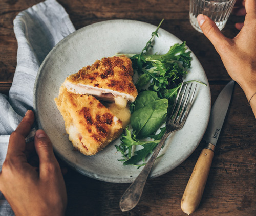
[[77, 94], [93, 95], [99, 100], [134, 102], [138, 95], [133, 84], [132, 61], [126, 56], [97, 60], [66, 78], [63, 85]]

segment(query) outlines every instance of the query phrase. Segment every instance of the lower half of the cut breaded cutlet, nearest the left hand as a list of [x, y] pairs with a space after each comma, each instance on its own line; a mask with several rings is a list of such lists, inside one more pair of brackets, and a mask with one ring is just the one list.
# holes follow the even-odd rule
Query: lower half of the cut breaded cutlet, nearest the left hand
[[123, 131], [122, 122], [91, 95], [74, 94], [63, 86], [55, 103], [75, 149], [95, 155]]

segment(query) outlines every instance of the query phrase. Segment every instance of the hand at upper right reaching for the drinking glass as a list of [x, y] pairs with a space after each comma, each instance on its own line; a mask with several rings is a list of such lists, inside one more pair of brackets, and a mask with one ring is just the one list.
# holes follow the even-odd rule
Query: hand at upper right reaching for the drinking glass
[[[242, 87], [249, 101], [256, 92], [256, 1], [246, 0], [245, 8], [244, 26], [233, 39], [225, 37], [209, 17], [200, 14], [197, 20], [221, 56], [228, 74]], [[253, 112], [256, 114], [255, 108]]]

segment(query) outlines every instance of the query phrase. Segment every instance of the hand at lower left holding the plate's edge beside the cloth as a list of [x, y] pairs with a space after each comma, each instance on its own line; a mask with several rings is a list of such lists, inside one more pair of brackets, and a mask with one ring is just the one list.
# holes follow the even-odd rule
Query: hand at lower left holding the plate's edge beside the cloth
[[[10, 136], [0, 172], [0, 190], [15, 215], [64, 215], [66, 187], [50, 139], [44, 131], [37, 130], [34, 145], [25, 143], [33, 122], [34, 114], [29, 110]], [[33, 149], [39, 157], [39, 167], [28, 163]]]

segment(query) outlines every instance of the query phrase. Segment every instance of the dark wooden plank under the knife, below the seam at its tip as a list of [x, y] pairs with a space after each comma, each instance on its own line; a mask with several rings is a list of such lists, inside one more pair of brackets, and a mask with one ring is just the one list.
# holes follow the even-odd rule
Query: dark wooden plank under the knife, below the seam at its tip
[[[210, 86], [213, 102], [224, 86]], [[201, 204], [193, 213], [195, 216], [255, 215], [256, 150], [253, 140], [256, 126], [247, 104], [242, 89], [236, 85]], [[139, 204], [130, 212], [119, 209], [120, 197], [129, 184], [101, 182], [71, 171], [65, 176], [69, 196], [67, 215], [185, 215], [180, 209], [180, 201], [203, 146], [201, 142], [173, 171], [148, 180]]]

